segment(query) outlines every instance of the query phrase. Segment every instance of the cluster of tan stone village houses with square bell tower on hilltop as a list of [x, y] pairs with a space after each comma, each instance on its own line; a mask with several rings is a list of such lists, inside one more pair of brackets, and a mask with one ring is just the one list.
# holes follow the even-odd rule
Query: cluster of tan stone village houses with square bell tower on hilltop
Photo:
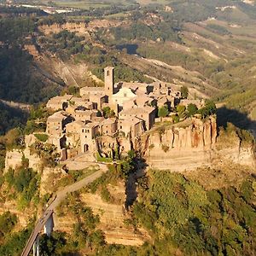
[[[150, 131], [155, 122], [172, 121], [178, 104], [204, 106], [203, 100], [183, 99], [180, 91], [160, 82], [114, 84], [113, 67], [104, 69], [104, 78], [104, 87], [83, 87], [80, 96], [55, 96], [47, 103], [46, 107], [55, 111], [47, 119], [48, 143], [55, 145], [61, 160], [82, 153], [94, 158], [96, 152], [109, 157], [106, 152], [111, 154], [116, 138], [127, 152], [133, 139]], [[168, 116], [159, 118], [160, 108], [166, 108]]]

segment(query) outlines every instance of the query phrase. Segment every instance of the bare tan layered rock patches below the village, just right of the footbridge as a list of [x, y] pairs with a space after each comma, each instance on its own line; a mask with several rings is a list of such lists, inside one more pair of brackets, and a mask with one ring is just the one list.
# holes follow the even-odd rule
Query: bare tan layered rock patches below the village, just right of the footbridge
[[[150, 237], [146, 230], [139, 228], [134, 230], [132, 225], [125, 224], [130, 216], [125, 210], [125, 184], [108, 185], [108, 190], [116, 202], [102, 201], [101, 195], [83, 193], [81, 200], [90, 207], [94, 214], [98, 214], [100, 223], [97, 228], [103, 230], [108, 244], [123, 244], [129, 246], [141, 246]], [[70, 214], [55, 216], [55, 230], [71, 232], [75, 220]]]

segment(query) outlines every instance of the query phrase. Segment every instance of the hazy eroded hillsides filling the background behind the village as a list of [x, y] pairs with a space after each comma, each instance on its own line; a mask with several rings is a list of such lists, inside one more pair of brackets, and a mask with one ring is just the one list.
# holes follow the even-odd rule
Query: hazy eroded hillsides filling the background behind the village
[[[209, 96], [255, 116], [253, 3], [137, 2], [143, 4], [139, 10], [130, 9], [134, 1], [118, 7], [108, 1], [104, 8], [97, 6], [70, 15], [30, 17], [31, 11], [22, 9], [22, 16], [26, 14], [22, 18], [21, 10], [20, 15], [18, 10], [12, 15], [12, 9], [5, 9], [5, 18], [0, 20], [0, 98], [45, 102], [67, 85], [98, 83], [102, 68], [113, 65], [117, 79], [186, 84], [195, 97]], [[64, 1], [54, 3], [61, 5]], [[60, 28], [66, 22], [84, 24], [84, 15], [88, 15], [87, 24], [91, 20], [96, 24], [97, 17], [104, 21], [98, 20], [98, 25], [84, 32], [80, 28], [77, 34], [73, 29], [47, 35], [38, 30], [42, 24]]]

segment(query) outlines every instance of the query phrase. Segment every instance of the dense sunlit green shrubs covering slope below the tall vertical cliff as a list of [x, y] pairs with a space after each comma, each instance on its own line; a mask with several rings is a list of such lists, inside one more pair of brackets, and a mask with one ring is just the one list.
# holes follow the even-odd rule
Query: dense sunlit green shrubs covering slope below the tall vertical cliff
[[207, 191], [181, 174], [151, 170], [148, 179], [140, 182], [133, 210], [154, 237], [148, 254], [170, 255], [178, 250], [185, 255], [253, 253], [254, 186], [255, 179], [249, 177], [240, 189]]

